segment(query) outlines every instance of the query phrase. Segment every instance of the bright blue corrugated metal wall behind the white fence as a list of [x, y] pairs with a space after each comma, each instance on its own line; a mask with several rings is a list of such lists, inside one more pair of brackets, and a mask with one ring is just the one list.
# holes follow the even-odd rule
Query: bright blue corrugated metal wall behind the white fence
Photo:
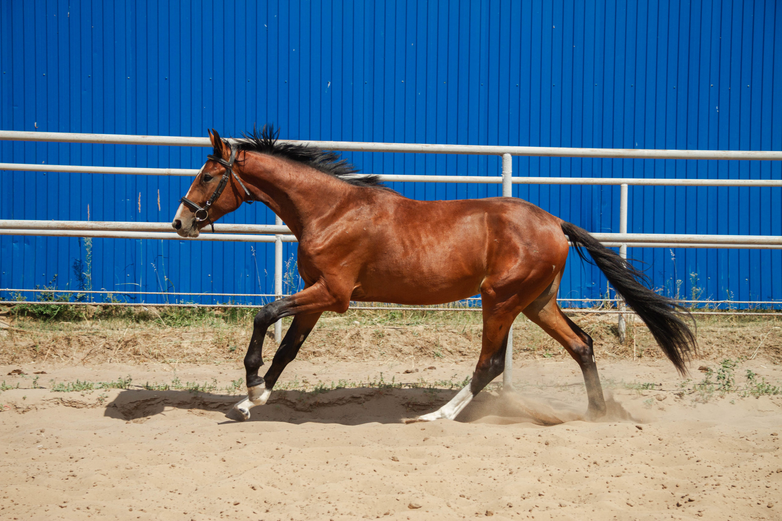
[[[606, 148], [782, 149], [782, 7], [757, 2], [0, 3], [5, 130]], [[776, 76], [775, 76], [776, 75]], [[0, 143], [2, 161], [198, 168], [203, 148]], [[497, 157], [346, 154], [369, 173], [497, 175]], [[518, 175], [780, 179], [777, 162], [515, 158]], [[2, 219], [167, 221], [189, 179], [3, 172]], [[412, 198], [497, 185], [394, 184]], [[619, 188], [516, 186], [591, 231]], [[630, 187], [630, 231], [782, 234], [782, 189]], [[224, 219], [273, 223], [261, 205]], [[285, 246], [285, 257], [295, 245]], [[91, 287], [269, 293], [267, 244], [92, 241]], [[779, 251], [630, 249], [656, 287], [782, 299]], [[84, 240], [0, 238], [0, 287], [90, 284]], [[52, 280], [56, 280], [52, 283]], [[594, 297], [572, 260], [561, 297]], [[5, 295], [8, 296], [7, 294]], [[148, 301], [154, 302], [154, 298]], [[223, 298], [219, 300], [224, 300]], [[202, 302], [210, 302], [205, 299]]]

